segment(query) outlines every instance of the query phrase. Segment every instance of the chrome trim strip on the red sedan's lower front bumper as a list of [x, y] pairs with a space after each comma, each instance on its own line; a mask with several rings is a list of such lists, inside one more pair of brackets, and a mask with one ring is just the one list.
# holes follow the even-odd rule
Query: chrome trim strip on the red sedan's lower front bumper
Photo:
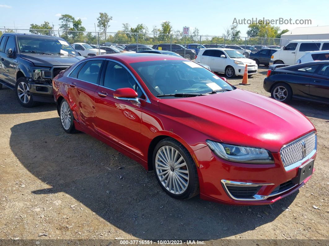
[[227, 189], [226, 187], [226, 184], [233, 184], [233, 185], [246, 185], [246, 186], [265, 186], [265, 185], [274, 185], [274, 184], [270, 184], [270, 183], [244, 183], [244, 182], [236, 182], [236, 181], [230, 181], [230, 180], [225, 180], [225, 179], [222, 179], [221, 180], [221, 183], [224, 187], [224, 190], [226, 191], [226, 193], [229, 195], [230, 198], [234, 199], [234, 200], [238, 200], [238, 201], [261, 201], [261, 200], [266, 200], [267, 198], [269, 197], [272, 197], [272, 196], [276, 196], [276, 195], [280, 195], [284, 192], [287, 192], [288, 190], [291, 190], [293, 188], [295, 188], [296, 186], [298, 186], [298, 184], [294, 185], [293, 187], [290, 187], [289, 189], [287, 190], [284, 190], [284, 191], [281, 191], [281, 192], [278, 192], [278, 193], [274, 193], [274, 194], [269, 194], [269, 195], [254, 195], [253, 198], [236, 198], [234, 197], [230, 192], [229, 190]]

